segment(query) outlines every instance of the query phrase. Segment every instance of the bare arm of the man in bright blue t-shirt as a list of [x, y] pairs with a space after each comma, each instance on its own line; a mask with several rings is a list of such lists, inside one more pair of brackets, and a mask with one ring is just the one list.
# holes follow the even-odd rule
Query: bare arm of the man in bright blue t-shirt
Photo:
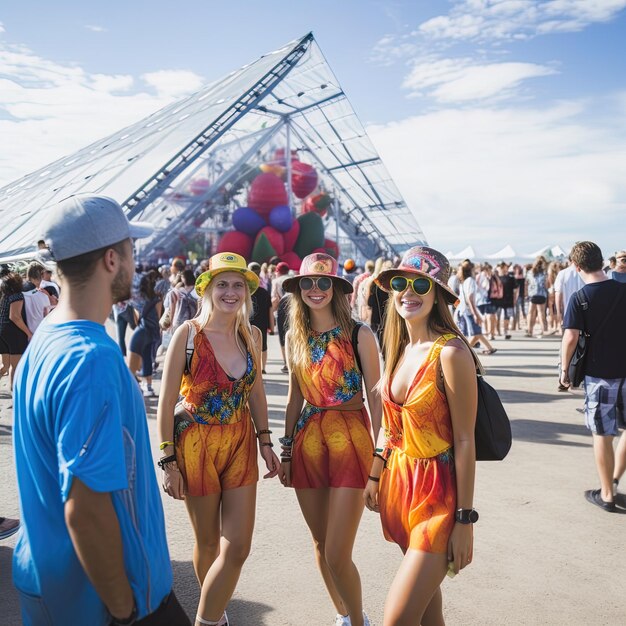
[[111, 495], [92, 491], [74, 477], [65, 502], [65, 523], [76, 555], [109, 613], [121, 620], [129, 617], [135, 600]]

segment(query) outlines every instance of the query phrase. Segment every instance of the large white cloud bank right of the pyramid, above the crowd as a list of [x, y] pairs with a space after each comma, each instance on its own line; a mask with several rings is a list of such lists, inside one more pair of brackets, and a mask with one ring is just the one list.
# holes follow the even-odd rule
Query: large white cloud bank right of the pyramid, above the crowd
[[[604, 110], [604, 116], [597, 111]], [[368, 128], [436, 248], [623, 247], [626, 94], [549, 108], [446, 110]]]

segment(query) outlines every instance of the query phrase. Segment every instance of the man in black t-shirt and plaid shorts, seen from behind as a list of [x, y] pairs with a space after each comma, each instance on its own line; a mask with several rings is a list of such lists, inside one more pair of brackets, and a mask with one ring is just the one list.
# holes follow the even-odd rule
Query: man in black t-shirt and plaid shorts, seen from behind
[[589, 335], [585, 357], [585, 421], [593, 433], [600, 489], [585, 492], [589, 502], [614, 512], [614, 496], [626, 470], [626, 435], [617, 448], [613, 438], [626, 428], [626, 285], [602, 271], [602, 251], [591, 241], [574, 245], [570, 258], [585, 286], [569, 301], [563, 319], [559, 383], [570, 385], [567, 366], [581, 331]]

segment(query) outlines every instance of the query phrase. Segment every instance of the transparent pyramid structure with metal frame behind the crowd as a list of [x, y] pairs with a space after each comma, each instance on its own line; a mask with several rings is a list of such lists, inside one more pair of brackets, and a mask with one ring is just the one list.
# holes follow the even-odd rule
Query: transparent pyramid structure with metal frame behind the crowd
[[[156, 226], [140, 242], [143, 256], [171, 256], [198, 239], [210, 252], [245, 204], [251, 176], [279, 149], [317, 170], [334, 199], [325, 229], [344, 255], [392, 256], [425, 243], [309, 33], [0, 189], [0, 257], [32, 251], [43, 212], [85, 192]], [[291, 195], [290, 171], [287, 188]]]

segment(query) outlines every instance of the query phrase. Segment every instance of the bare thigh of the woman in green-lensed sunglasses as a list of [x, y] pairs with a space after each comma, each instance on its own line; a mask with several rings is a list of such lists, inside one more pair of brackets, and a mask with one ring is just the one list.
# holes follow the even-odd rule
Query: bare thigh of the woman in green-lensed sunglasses
[[[446, 554], [407, 550], [385, 600], [383, 626], [443, 625], [440, 600], [434, 596], [447, 566]], [[429, 621], [423, 622], [424, 617]]]

